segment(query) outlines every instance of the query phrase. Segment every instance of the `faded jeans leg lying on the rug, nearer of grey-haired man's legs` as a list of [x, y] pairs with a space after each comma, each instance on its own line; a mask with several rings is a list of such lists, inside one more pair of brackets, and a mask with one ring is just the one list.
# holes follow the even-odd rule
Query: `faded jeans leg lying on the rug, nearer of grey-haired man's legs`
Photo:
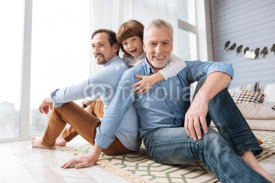
[[155, 162], [178, 165], [202, 161], [223, 183], [269, 182], [251, 169], [215, 130], [208, 128], [202, 140], [194, 141], [184, 127], [147, 131], [144, 145]]

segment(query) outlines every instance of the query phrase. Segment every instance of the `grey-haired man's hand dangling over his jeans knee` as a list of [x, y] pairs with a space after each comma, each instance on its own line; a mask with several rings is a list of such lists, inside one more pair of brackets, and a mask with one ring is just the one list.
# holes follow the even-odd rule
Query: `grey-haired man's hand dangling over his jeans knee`
[[188, 135], [195, 141], [202, 139], [200, 126], [202, 125], [204, 133], [207, 133], [206, 115], [208, 112], [208, 101], [200, 96], [196, 96], [190, 108], [185, 114], [184, 128]]

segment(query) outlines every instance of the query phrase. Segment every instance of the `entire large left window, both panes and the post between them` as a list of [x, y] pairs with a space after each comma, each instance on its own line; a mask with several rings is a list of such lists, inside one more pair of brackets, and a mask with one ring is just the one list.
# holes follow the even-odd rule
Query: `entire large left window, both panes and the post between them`
[[0, 142], [42, 135], [43, 98], [90, 76], [89, 9], [89, 0], [0, 1]]

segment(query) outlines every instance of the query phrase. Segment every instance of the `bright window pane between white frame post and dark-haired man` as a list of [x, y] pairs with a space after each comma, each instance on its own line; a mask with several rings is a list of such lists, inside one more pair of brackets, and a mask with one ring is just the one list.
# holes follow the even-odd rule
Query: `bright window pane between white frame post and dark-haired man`
[[34, 0], [32, 18], [31, 136], [47, 125], [42, 99], [89, 77], [89, 1]]

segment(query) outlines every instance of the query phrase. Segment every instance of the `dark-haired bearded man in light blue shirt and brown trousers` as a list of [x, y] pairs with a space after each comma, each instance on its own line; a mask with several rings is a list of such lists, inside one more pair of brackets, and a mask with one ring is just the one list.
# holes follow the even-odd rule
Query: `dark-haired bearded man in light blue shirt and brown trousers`
[[[107, 29], [99, 29], [92, 35], [93, 54], [103, 69], [88, 78], [84, 82], [56, 89], [51, 96], [46, 97], [39, 107], [41, 113], [51, 112], [46, 131], [42, 138], [33, 138], [35, 148], [54, 148], [55, 141], [60, 135], [66, 123], [70, 124], [78, 134], [95, 145], [96, 130], [103, 123], [101, 119], [89, 114], [77, 104], [71, 102], [77, 99], [100, 97], [104, 103], [104, 113], [109, 110], [109, 104], [116, 91], [122, 74], [128, 69], [126, 62], [118, 56], [119, 45], [116, 34]], [[118, 110], [118, 109], [116, 109]], [[129, 123], [131, 121], [131, 123]], [[112, 145], [104, 149], [106, 154], [125, 154], [137, 151], [141, 144], [138, 135], [138, 116], [135, 108], [131, 105], [121, 119], [113, 137]], [[132, 143], [135, 142], [135, 143]]]

